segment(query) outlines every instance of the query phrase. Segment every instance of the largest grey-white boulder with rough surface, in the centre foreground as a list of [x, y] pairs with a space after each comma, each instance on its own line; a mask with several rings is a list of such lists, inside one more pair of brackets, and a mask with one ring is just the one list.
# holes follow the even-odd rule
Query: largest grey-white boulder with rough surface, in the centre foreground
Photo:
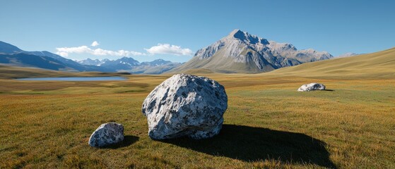
[[225, 88], [207, 77], [173, 75], [148, 94], [142, 112], [152, 139], [204, 139], [220, 132], [228, 108]]

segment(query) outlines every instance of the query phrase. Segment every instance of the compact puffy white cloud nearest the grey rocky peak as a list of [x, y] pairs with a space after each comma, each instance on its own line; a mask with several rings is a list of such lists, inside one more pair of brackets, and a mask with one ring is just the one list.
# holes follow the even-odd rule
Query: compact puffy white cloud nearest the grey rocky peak
[[181, 46], [175, 46], [170, 44], [158, 44], [152, 46], [150, 49], [144, 49], [149, 54], [174, 54], [174, 55], [192, 55], [191, 49], [182, 49]]

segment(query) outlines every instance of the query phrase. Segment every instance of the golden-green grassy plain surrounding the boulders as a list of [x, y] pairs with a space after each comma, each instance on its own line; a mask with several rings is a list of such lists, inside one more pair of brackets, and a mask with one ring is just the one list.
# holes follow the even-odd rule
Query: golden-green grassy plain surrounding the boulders
[[[223, 130], [212, 139], [160, 142], [148, 137], [141, 104], [170, 75], [25, 82], [12, 80], [8, 67], [0, 74], [4, 69], [0, 168], [395, 168], [395, 70], [366, 77], [304, 68], [255, 75], [205, 72], [228, 94]], [[296, 92], [308, 82], [330, 90]], [[108, 122], [124, 125], [124, 142], [88, 146], [90, 134]]]

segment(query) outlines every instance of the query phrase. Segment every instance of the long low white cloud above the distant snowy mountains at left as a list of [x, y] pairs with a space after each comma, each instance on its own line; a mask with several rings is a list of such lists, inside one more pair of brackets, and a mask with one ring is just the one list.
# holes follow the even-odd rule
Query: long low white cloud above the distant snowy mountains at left
[[60, 56], [69, 56], [69, 54], [92, 54], [95, 56], [138, 56], [146, 55], [137, 51], [110, 51], [105, 49], [90, 49], [88, 46], [78, 47], [61, 47], [57, 48], [57, 54]]

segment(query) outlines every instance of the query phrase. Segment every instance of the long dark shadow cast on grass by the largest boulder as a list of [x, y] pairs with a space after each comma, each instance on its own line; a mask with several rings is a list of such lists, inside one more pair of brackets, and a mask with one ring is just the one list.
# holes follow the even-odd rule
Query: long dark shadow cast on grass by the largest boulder
[[210, 139], [187, 137], [165, 139], [175, 144], [213, 156], [242, 161], [278, 160], [284, 163], [311, 163], [336, 168], [329, 159], [325, 143], [306, 134], [269, 130], [242, 125], [223, 125], [220, 134]]

